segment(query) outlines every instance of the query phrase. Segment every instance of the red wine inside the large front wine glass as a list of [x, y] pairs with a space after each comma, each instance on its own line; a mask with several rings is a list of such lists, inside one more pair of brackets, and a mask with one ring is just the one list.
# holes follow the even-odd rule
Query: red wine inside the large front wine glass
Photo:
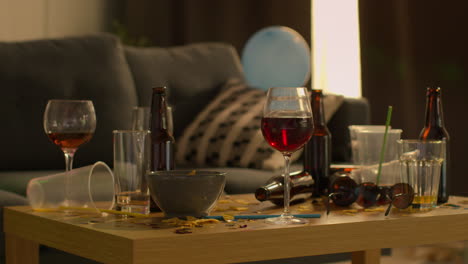
[[311, 117], [263, 117], [262, 133], [270, 146], [280, 152], [292, 153], [312, 136]]

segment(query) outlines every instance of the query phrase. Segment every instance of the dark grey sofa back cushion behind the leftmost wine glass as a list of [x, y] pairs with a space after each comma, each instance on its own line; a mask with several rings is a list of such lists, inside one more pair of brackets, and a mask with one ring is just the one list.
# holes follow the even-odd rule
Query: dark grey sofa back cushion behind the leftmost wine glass
[[137, 105], [123, 48], [108, 34], [0, 43], [0, 169], [64, 169], [44, 133], [49, 99], [92, 100], [97, 127], [75, 167], [112, 162], [112, 130], [127, 128]]

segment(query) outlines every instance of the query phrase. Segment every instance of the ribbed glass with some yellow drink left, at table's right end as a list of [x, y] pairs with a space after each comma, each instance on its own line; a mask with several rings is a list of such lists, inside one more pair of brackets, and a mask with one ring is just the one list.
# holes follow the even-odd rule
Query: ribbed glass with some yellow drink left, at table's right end
[[437, 140], [398, 140], [400, 181], [413, 187], [414, 209], [436, 206], [445, 142]]

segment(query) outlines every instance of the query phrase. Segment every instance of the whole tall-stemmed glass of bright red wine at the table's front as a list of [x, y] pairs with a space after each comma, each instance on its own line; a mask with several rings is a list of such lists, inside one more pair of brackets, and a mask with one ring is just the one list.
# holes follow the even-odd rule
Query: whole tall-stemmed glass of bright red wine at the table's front
[[283, 154], [284, 211], [279, 217], [268, 218], [272, 224], [302, 224], [289, 211], [291, 155], [303, 147], [312, 135], [312, 111], [307, 89], [304, 87], [274, 87], [267, 93], [263, 109], [262, 133], [270, 146]]

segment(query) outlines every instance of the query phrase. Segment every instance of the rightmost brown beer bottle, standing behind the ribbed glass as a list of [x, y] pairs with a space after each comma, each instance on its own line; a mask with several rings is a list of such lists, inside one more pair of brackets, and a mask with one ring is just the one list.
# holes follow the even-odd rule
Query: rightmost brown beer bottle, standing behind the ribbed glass
[[439, 192], [437, 195], [437, 203], [446, 203], [449, 197], [448, 183], [450, 177], [450, 151], [449, 151], [449, 134], [444, 125], [444, 114], [442, 111], [441, 90], [439, 87], [427, 88], [426, 93], [426, 123], [419, 135], [422, 140], [443, 140], [445, 141], [445, 159], [442, 163]]

